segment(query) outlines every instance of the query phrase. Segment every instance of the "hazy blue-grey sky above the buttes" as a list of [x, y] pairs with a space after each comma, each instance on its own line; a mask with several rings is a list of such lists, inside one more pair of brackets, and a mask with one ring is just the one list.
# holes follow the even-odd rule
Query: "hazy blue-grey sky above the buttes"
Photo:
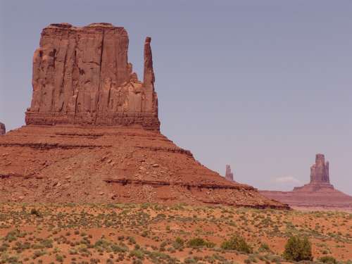
[[161, 131], [201, 163], [289, 190], [325, 153], [352, 194], [351, 14], [351, 0], [0, 0], [0, 120], [24, 125], [43, 27], [113, 23], [140, 79], [152, 37]]

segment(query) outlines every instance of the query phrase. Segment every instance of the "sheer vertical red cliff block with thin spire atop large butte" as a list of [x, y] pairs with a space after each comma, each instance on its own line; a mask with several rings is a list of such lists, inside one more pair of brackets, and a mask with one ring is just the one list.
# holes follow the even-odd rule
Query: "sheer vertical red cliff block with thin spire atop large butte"
[[144, 44], [144, 82], [128, 63], [123, 27], [51, 24], [33, 57], [29, 124], [142, 125], [158, 130], [151, 38]]

